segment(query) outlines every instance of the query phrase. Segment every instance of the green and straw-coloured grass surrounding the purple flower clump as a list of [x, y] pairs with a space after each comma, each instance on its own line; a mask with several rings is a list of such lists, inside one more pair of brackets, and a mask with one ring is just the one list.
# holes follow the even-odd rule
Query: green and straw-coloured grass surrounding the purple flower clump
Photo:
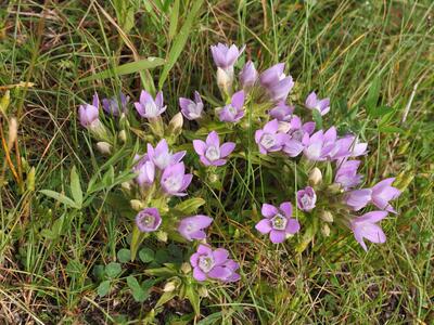
[[[285, 193], [273, 178], [292, 184], [292, 176], [251, 161], [239, 170], [232, 161], [225, 191], [195, 194], [207, 202], [204, 212], [216, 219], [213, 238], [238, 258], [243, 281], [208, 287], [200, 324], [434, 322], [432, 1], [202, 1], [197, 16], [188, 1], [85, 2], [17, 0], [0, 8], [0, 90], [35, 83], [11, 87], [9, 116], [20, 125], [21, 159], [11, 151], [17, 180], [0, 152], [0, 323], [101, 324], [120, 322], [120, 315], [130, 324], [145, 322], [164, 283], [150, 283], [150, 297], [139, 303], [126, 278], [131, 272], [149, 278], [146, 264], [123, 263], [111, 292], [101, 298], [97, 291], [95, 265], [116, 261], [129, 247], [128, 217], [113, 197], [118, 192], [103, 188], [87, 207], [68, 209], [39, 191], [69, 195], [73, 166], [85, 190], [103, 170], [106, 159], [93, 153], [77, 122], [77, 106], [94, 90], [122, 89], [137, 99], [143, 87], [162, 86], [169, 115], [178, 112], [179, 96], [196, 89], [218, 102], [209, 53], [218, 41], [246, 43], [244, 60], [260, 69], [285, 62], [296, 103], [312, 89], [330, 95], [324, 126], [333, 121], [370, 144], [366, 183], [398, 176], [405, 192], [399, 213], [382, 223], [386, 244], [365, 253], [350, 234], [334, 232], [297, 255], [294, 245], [271, 246], [253, 229], [264, 198]], [[82, 81], [149, 56], [167, 63]], [[368, 109], [370, 100], [393, 113]], [[7, 119], [0, 121], [7, 138]], [[30, 167], [35, 187], [21, 185]], [[159, 250], [161, 261], [165, 253]], [[161, 324], [193, 323], [186, 301], [175, 299], [157, 312]], [[184, 323], [179, 314], [187, 315]]]

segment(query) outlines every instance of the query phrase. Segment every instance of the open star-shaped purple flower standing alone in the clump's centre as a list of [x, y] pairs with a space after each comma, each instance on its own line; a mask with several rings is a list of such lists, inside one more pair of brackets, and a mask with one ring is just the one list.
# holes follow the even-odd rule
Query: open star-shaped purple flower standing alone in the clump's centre
[[233, 152], [235, 144], [226, 142], [220, 146], [220, 139], [217, 132], [213, 131], [206, 136], [206, 142], [193, 140], [193, 147], [205, 166], [222, 166], [226, 164], [224, 158]]

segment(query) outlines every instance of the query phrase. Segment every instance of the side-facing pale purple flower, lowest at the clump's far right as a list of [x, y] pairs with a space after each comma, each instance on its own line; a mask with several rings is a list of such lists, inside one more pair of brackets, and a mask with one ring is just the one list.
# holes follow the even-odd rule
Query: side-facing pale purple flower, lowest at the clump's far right
[[375, 244], [386, 242], [386, 235], [381, 226], [376, 224], [376, 222], [383, 220], [386, 216], [387, 211], [372, 211], [350, 221], [350, 229], [354, 233], [354, 237], [366, 251], [368, 251], [368, 247], [363, 238]]

